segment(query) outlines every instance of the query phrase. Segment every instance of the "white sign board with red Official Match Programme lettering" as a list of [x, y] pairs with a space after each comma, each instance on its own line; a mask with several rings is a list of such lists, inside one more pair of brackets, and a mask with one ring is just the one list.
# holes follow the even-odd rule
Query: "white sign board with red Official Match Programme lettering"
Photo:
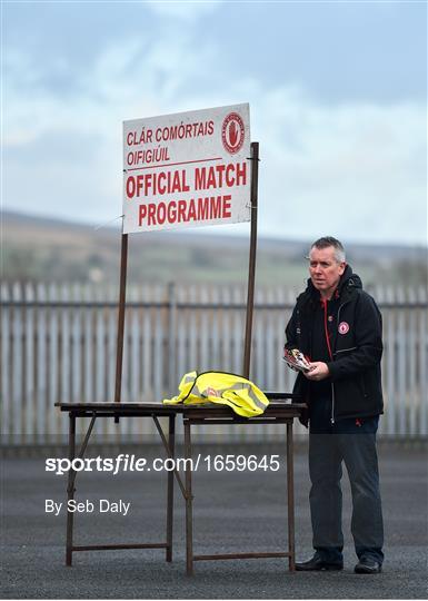
[[249, 221], [249, 112], [123, 121], [123, 234]]

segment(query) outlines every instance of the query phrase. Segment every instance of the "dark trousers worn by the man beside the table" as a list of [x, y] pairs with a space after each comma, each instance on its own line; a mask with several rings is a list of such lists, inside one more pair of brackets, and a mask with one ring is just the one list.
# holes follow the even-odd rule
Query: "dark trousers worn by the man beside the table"
[[[352, 494], [351, 532], [357, 556], [382, 563], [384, 522], [376, 432], [378, 417], [330, 423], [329, 403], [311, 408], [309, 434], [310, 513], [313, 548], [325, 561], [342, 563], [342, 463]], [[315, 411], [313, 411], [315, 410]]]

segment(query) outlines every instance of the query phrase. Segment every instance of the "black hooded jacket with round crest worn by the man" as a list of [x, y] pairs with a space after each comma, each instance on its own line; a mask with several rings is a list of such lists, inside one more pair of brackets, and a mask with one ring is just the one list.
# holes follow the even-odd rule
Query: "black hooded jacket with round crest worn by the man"
[[[312, 358], [313, 319], [320, 303], [319, 292], [308, 280], [286, 328], [288, 348], [299, 348]], [[331, 383], [332, 422], [344, 417], [368, 417], [384, 413], [380, 358], [382, 355], [381, 315], [361, 279], [348, 265], [332, 303], [330, 346], [327, 362]], [[326, 343], [327, 344], [327, 343]], [[311, 390], [312, 388], [312, 390]], [[313, 401], [311, 382], [298, 374], [293, 392], [308, 404]], [[307, 416], [303, 417], [307, 423]]]

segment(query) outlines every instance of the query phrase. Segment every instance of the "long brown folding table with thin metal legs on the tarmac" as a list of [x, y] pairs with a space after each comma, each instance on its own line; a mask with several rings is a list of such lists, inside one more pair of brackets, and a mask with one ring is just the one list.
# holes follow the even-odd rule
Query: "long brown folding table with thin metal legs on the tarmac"
[[[57, 403], [62, 412], [69, 414], [69, 459], [82, 459], [92, 433], [97, 418], [126, 418], [126, 417], [149, 417], [152, 418], [160, 440], [168, 457], [175, 457], [176, 450], [176, 416], [181, 415], [185, 430], [185, 459], [192, 456], [191, 426], [203, 424], [232, 425], [241, 424], [286, 424], [286, 451], [287, 451], [287, 523], [288, 523], [288, 549], [272, 551], [269, 553], [230, 553], [216, 555], [193, 554], [193, 495], [192, 495], [192, 473], [190, 469], [185, 469], [185, 483], [177, 469], [168, 472], [167, 486], [167, 532], [166, 540], [153, 543], [141, 544], [73, 544], [73, 513], [67, 513], [67, 543], [66, 564], [71, 565], [72, 554], [78, 551], [100, 551], [119, 549], [165, 549], [166, 561], [172, 561], [172, 523], [173, 523], [173, 479], [180, 486], [186, 502], [186, 558], [187, 574], [192, 575], [193, 562], [202, 560], [226, 560], [226, 559], [249, 559], [249, 558], [288, 558], [290, 571], [295, 570], [295, 504], [293, 504], [293, 420], [299, 417], [306, 405], [300, 403], [286, 403], [286, 398], [296, 398], [289, 393], [266, 393], [270, 404], [265, 413], [258, 417], [240, 417], [232, 410], [225, 405], [163, 405], [161, 403]], [[282, 401], [282, 402], [279, 402]], [[82, 445], [76, 452], [76, 421], [77, 418], [89, 417], [90, 423]], [[159, 417], [168, 417], [168, 436], [163, 433], [159, 423]], [[187, 462], [185, 462], [187, 464]], [[69, 471], [67, 494], [68, 501], [74, 499], [77, 472]]]

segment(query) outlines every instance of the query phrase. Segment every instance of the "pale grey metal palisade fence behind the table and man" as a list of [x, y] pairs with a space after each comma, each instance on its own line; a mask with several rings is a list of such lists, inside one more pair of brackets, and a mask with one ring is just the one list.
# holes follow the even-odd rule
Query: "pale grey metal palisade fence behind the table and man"
[[[291, 391], [281, 361], [283, 329], [298, 290], [256, 295], [251, 380], [262, 390]], [[380, 434], [427, 435], [427, 290], [370, 290], [384, 316], [386, 413]], [[155, 402], [177, 392], [197, 370], [242, 370], [246, 289], [143, 286], [127, 297], [122, 401]], [[1, 433], [3, 444], [44, 443], [63, 436], [68, 420], [54, 403], [113, 400], [117, 290], [54, 285], [1, 287]], [[203, 426], [201, 426], [203, 427]], [[227, 430], [227, 432], [226, 432]], [[270, 441], [280, 426], [209, 428], [216, 441]], [[151, 421], [102, 420], [99, 434], [117, 441], [152, 441]], [[305, 432], [302, 426], [297, 432]], [[198, 435], [198, 432], [196, 431]]]

